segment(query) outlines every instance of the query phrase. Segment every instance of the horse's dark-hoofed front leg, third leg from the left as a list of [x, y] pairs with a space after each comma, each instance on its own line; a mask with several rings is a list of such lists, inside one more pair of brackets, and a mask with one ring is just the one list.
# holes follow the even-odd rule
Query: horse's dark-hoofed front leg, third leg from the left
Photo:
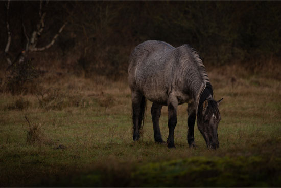
[[169, 136], [167, 138], [168, 148], [175, 148], [174, 130], [177, 124], [177, 106], [178, 100], [176, 97], [169, 96], [168, 98], [168, 127]]

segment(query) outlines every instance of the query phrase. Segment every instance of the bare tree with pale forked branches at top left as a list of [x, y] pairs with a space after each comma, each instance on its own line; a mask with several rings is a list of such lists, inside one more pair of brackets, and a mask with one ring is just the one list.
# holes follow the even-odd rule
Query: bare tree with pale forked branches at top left
[[[44, 47], [37, 47], [37, 42], [38, 42], [38, 37], [41, 36], [43, 30], [44, 30], [44, 26], [45, 26], [45, 16], [46, 16], [46, 12], [43, 11], [43, 7], [47, 6], [49, 3], [49, 0], [47, 1], [43, 1], [40, 0], [40, 5], [39, 5], [39, 12], [38, 12], [38, 16], [39, 16], [39, 22], [37, 23], [37, 27], [36, 29], [32, 32], [31, 37], [28, 36], [27, 32], [26, 32], [26, 27], [25, 24], [22, 22], [22, 28], [24, 30], [24, 34], [26, 37], [26, 45], [24, 50], [22, 50], [19, 55], [15, 58], [14, 61], [11, 60], [11, 57], [9, 55], [9, 49], [10, 49], [10, 45], [11, 45], [11, 31], [10, 31], [10, 22], [9, 22], [9, 9], [10, 9], [10, 0], [8, 0], [7, 5], [6, 5], [6, 27], [7, 27], [7, 35], [8, 35], [8, 40], [7, 40], [7, 44], [6, 44], [6, 48], [5, 48], [5, 56], [8, 62], [8, 65], [11, 66], [12, 64], [14, 64], [15, 62], [18, 62], [19, 64], [21, 62], [23, 62], [25, 60], [25, 58], [27, 57], [27, 54], [29, 52], [34, 52], [34, 51], [44, 51], [48, 48], [50, 48], [51, 46], [54, 45], [56, 39], [58, 38], [59, 34], [62, 32], [62, 30], [64, 29], [64, 27], [66, 26], [66, 22], [60, 27], [59, 31], [53, 36], [52, 40], [50, 41], [49, 44], [47, 44]], [[18, 60], [18, 61], [17, 61]]]

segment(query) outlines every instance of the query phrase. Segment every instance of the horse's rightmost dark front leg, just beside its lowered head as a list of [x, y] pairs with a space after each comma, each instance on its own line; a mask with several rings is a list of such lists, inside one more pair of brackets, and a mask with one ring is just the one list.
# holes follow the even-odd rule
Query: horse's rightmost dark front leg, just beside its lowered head
[[196, 147], [196, 144], [194, 142], [194, 124], [195, 124], [195, 119], [196, 119], [196, 109], [194, 108], [193, 104], [189, 104], [188, 107], [188, 142], [189, 142], [189, 147]]

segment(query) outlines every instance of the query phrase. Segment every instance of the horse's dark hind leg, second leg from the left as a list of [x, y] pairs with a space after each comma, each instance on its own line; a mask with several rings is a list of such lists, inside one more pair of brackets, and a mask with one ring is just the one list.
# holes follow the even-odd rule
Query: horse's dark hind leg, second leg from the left
[[154, 140], [158, 143], [165, 143], [164, 140], [162, 140], [160, 127], [159, 127], [159, 118], [161, 115], [161, 109], [162, 105], [158, 105], [156, 103], [152, 103], [151, 107], [151, 116], [152, 116], [152, 123], [153, 123], [153, 131], [154, 131]]

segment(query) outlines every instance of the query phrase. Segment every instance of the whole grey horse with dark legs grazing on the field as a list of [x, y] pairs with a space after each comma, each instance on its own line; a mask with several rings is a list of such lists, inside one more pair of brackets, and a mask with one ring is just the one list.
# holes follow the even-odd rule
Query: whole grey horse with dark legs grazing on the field
[[163, 41], [148, 40], [132, 51], [128, 82], [132, 92], [133, 140], [140, 138], [145, 117], [146, 99], [152, 101], [151, 115], [155, 142], [162, 140], [159, 118], [163, 105], [168, 106], [168, 148], [175, 147], [174, 129], [177, 107], [188, 103], [188, 143], [195, 147], [194, 124], [203, 135], [207, 147], [219, 148], [219, 103], [213, 98], [205, 66], [189, 45], [178, 48]]

